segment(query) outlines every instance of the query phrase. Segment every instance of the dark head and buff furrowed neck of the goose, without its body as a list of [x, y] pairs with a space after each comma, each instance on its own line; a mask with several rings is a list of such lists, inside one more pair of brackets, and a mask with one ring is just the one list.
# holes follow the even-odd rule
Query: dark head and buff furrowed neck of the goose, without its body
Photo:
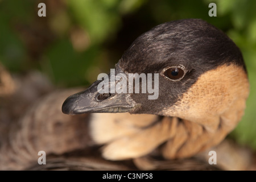
[[145, 32], [114, 71], [158, 74], [158, 98], [100, 93], [97, 80], [62, 105], [64, 114], [90, 113], [88, 133], [107, 160], [184, 159], [216, 146], [241, 120], [249, 95], [240, 49], [201, 19], [174, 20]]

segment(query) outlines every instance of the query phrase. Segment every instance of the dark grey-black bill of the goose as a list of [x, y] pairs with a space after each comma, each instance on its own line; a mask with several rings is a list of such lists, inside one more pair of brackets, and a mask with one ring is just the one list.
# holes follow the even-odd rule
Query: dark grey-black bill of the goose
[[69, 96], [62, 105], [63, 113], [125, 113], [135, 107], [129, 93], [99, 93], [100, 82], [98, 80], [85, 91]]

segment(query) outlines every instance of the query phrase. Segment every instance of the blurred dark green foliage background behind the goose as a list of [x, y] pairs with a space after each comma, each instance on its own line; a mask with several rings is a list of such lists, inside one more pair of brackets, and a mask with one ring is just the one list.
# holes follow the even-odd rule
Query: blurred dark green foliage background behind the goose
[[[37, 7], [46, 3], [47, 16]], [[217, 17], [209, 17], [209, 3]], [[201, 18], [241, 48], [250, 79], [242, 122], [230, 137], [256, 149], [256, 1], [0, 0], [0, 61], [13, 73], [38, 69], [56, 86], [88, 86], [114, 68], [138, 35], [157, 24]]]

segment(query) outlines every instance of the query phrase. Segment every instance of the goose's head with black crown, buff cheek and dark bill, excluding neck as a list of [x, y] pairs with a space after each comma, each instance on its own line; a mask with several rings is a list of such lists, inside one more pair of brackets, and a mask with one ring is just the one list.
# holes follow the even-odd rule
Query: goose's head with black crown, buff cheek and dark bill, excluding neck
[[[201, 19], [167, 22], [145, 32], [123, 53], [114, 71], [127, 78], [131, 73], [147, 77], [151, 73], [152, 88], [158, 87], [158, 93], [102, 94], [98, 89], [102, 81], [97, 80], [84, 92], [68, 97], [63, 113], [156, 114], [195, 122], [209, 131], [225, 121], [231, 131], [243, 115], [249, 94], [240, 49]], [[110, 76], [109, 85], [117, 85]], [[157, 98], [149, 99], [153, 94]]]

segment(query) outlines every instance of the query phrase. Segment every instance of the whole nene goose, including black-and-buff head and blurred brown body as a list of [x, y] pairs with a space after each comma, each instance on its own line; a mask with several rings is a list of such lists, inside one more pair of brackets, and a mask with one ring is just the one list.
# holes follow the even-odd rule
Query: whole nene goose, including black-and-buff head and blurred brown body
[[[197, 154], [236, 127], [249, 94], [232, 40], [200, 19], [163, 23], [131, 44], [115, 73], [159, 73], [159, 97], [100, 94], [96, 81], [84, 92], [64, 89], [34, 98], [28, 109], [24, 99], [17, 102], [27, 96], [19, 88], [10, 96], [13, 104], [1, 100], [0, 109], [20, 111], [11, 125], [0, 117], [0, 169], [216, 169]], [[41, 150], [47, 165], [38, 164]], [[233, 156], [235, 164], [241, 156]]]

